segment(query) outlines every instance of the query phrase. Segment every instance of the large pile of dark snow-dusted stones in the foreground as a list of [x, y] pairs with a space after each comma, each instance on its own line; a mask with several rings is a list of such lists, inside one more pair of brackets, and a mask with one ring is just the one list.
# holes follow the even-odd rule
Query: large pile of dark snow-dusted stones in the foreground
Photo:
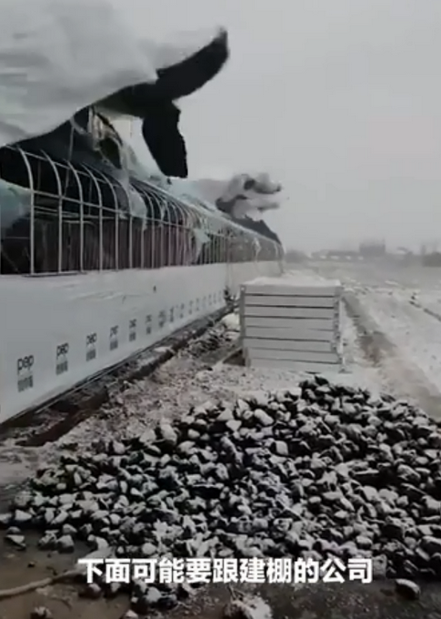
[[425, 413], [316, 376], [64, 455], [0, 522], [41, 530], [44, 549], [373, 557], [389, 577], [439, 579], [440, 453]]

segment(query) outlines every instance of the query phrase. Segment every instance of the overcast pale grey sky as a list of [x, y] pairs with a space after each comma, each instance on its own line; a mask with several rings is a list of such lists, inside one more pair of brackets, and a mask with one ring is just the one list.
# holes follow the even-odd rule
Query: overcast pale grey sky
[[131, 1], [146, 31], [229, 30], [182, 105], [192, 177], [271, 172], [290, 247], [441, 240], [441, 0]]

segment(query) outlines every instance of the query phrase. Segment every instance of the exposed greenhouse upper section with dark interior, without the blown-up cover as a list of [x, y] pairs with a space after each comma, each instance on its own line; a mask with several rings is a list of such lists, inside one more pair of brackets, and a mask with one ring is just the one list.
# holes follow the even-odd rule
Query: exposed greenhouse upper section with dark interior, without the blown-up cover
[[93, 110], [45, 136], [0, 148], [0, 170], [4, 273], [278, 260], [282, 254], [265, 222], [237, 219], [191, 190], [184, 194], [190, 181], [154, 178]]

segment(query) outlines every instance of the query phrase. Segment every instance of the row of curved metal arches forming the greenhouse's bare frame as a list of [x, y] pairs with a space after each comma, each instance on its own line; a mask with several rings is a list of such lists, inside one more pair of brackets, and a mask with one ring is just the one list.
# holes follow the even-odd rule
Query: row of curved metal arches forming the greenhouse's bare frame
[[[40, 227], [50, 228], [49, 233], [54, 224], [58, 229], [56, 256], [46, 260], [53, 263], [56, 258], [55, 272], [58, 273], [72, 269], [73, 264], [77, 265], [74, 270], [82, 271], [283, 259], [283, 248], [276, 241], [226, 217], [200, 198], [175, 196], [140, 178], [127, 177], [125, 184], [124, 180], [109, 176], [89, 163], [79, 166], [67, 160], [58, 161], [45, 152], [38, 155], [20, 147], [12, 149], [25, 165], [20, 185], [29, 188], [31, 194], [28, 246], [31, 274], [36, 271], [37, 221]], [[46, 170], [46, 180], [49, 178], [49, 193], [36, 176], [42, 166]], [[48, 170], [53, 180], [47, 176], [50, 175]], [[7, 177], [5, 180], [7, 182]], [[45, 197], [57, 208], [42, 210], [40, 205]], [[47, 223], [50, 218], [52, 223]], [[78, 226], [73, 233], [76, 219]], [[73, 245], [79, 246], [79, 257], [75, 255], [74, 259], [72, 247], [64, 249], [65, 229], [69, 238], [75, 237]], [[52, 238], [52, 242], [54, 240]], [[198, 245], [200, 243], [202, 245]], [[202, 248], [200, 257], [198, 247]], [[64, 258], [66, 252], [68, 259]]]

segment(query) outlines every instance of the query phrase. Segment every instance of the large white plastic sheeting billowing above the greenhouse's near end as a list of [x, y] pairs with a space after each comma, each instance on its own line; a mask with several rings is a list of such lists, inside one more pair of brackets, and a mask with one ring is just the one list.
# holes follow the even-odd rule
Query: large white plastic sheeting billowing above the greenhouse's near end
[[156, 69], [193, 55], [215, 33], [155, 40], [125, 20], [130, 2], [2, 0], [0, 147], [47, 133], [121, 88], [155, 82]]

